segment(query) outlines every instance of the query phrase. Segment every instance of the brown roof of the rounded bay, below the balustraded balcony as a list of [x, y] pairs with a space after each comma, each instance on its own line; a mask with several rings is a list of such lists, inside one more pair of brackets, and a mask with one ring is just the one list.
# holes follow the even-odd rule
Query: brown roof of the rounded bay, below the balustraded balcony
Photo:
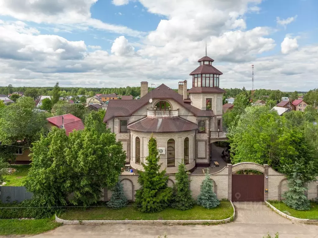
[[[108, 109], [107, 109], [108, 110]], [[133, 122], [127, 127], [130, 130], [145, 132], [179, 132], [198, 129], [197, 124], [187, 121], [181, 117], [174, 118], [150, 118]]]

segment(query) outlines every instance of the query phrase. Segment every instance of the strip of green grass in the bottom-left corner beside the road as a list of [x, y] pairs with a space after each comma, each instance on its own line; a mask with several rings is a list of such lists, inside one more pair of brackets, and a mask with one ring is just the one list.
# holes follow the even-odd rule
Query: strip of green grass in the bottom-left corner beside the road
[[33, 235], [61, 226], [53, 219], [18, 220], [0, 219], [0, 235]]

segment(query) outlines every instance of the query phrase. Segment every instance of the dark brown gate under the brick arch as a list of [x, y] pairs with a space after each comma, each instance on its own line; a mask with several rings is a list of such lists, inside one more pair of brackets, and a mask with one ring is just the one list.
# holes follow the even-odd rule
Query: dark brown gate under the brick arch
[[232, 175], [233, 202], [263, 202], [264, 175]]

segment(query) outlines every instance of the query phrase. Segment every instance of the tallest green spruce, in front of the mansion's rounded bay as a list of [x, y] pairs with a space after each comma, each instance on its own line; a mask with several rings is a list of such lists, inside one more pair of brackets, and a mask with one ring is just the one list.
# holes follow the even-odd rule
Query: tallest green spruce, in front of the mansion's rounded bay
[[136, 191], [136, 204], [142, 212], [158, 212], [167, 207], [170, 202], [172, 189], [168, 187], [166, 170], [159, 172], [161, 165], [157, 151], [157, 142], [151, 135], [149, 143], [149, 156], [147, 164], [142, 164], [144, 172], [139, 171], [138, 182], [141, 188]]

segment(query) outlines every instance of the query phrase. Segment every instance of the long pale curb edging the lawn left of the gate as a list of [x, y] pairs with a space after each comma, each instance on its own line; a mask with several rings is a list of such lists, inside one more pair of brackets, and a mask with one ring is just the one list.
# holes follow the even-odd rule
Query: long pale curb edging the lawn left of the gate
[[65, 225], [76, 224], [204, 224], [204, 223], [226, 223], [232, 221], [235, 217], [235, 208], [232, 201], [233, 215], [223, 220], [64, 220], [55, 214], [55, 221]]

